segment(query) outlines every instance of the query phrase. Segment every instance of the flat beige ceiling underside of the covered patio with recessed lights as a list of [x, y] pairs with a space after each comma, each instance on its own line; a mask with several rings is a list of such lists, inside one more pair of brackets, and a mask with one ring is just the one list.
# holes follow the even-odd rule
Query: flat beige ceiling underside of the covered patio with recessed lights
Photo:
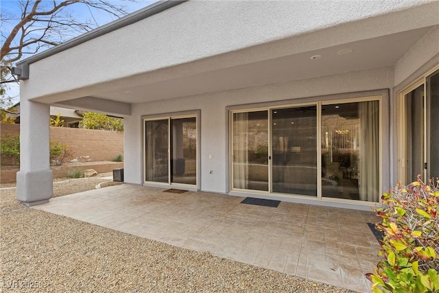
[[[143, 76], [136, 77], [136, 80], [143, 80], [145, 84], [133, 86], [130, 85], [132, 82], [129, 80], [119, 80], [113, 83], [113, 86], [117, 84], [116, 87], [119, 89], [105, 91], [105, 88], [103, 88], [101, 93], [95, 93], [93, 97], [140, 103], [362, 69], [387, 67], [394, 65], [429, 30], [431, 30], [431, 27], [425, 27], [226, 69], [204, 71], [180, 78], [160, 79], [150, 83], [148, 83], [149, 80], [154, 80], [150, 76], [157, 73], [145, 73]], [[272, 45], [276, 46], [276, 43]], [[241, 54], [251, 54], [252, 49], [254, 48], [243, 50]], [[338, 55], [337, 52], [342, 49], [353, 49], [353, 52]], [[311, 60], [310, 57], [314, 55], [322, 57]], [[196, 64], [179, 65], [179, 67], [190, 66], [196, 66]], [[178, 71], [180, 69], [167, 70]]]

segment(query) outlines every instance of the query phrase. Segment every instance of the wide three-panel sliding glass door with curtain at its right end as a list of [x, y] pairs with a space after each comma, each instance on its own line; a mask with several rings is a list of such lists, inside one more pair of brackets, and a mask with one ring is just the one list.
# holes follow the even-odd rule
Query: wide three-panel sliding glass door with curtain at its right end
[[379, 202], [379, 97], [230, 118], [232, 190]]

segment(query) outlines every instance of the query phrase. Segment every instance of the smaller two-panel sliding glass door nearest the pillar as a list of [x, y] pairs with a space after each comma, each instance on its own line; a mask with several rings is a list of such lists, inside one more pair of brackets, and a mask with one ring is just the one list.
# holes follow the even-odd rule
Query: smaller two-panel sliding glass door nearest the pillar
[[197, 119], [145, 120], [145, 181], [197, 184]]

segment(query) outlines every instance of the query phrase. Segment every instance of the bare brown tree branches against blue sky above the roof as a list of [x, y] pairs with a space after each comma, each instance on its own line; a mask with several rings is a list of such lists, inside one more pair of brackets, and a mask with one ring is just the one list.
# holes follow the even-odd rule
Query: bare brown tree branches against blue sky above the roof
[[[1, 27], [1, 75], [0, 75], [0, 108], [5, 105], [6, 84], [18, 82], [11, 74], [14, 62], [25, 56], [36, 54], [40, 49], [53, 47], [65, 40], [93, 30], [97, 23], [93, 11], [100, 11], [119, 18], [128, 14], [123, 6], [110, 3], [111, 0], [19, 0], [21, 15], [10, 16], [0, 14]], [[136, 0], [127, 0], [136, 1]], [[67, 9], [71, 5], [86, 5], [91, 12], [94, 23], [78, 21]], [[12, 24], [12, 29], [4, 27]], [[9, 26], [8, 26], [9, 27]], [[4, 110], [4, 109], [3, 109]]]

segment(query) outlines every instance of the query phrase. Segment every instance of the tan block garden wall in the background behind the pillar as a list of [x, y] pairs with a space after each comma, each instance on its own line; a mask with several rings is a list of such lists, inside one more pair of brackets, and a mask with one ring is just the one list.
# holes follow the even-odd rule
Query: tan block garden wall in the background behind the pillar
[[[1, 124], [1, 137], [6, 133], [19, 135], [20, 124]], [[65, 143], [73, 156], [90, 156], [91, 161], [111, 161], [117, 154], [123, 154], [123, 133], [106, 130], [51, 127], [50, 138]], [[84, 159], [86, 160], [86, 159]], [[10, 163], [1, 159], [1, 165]]]

